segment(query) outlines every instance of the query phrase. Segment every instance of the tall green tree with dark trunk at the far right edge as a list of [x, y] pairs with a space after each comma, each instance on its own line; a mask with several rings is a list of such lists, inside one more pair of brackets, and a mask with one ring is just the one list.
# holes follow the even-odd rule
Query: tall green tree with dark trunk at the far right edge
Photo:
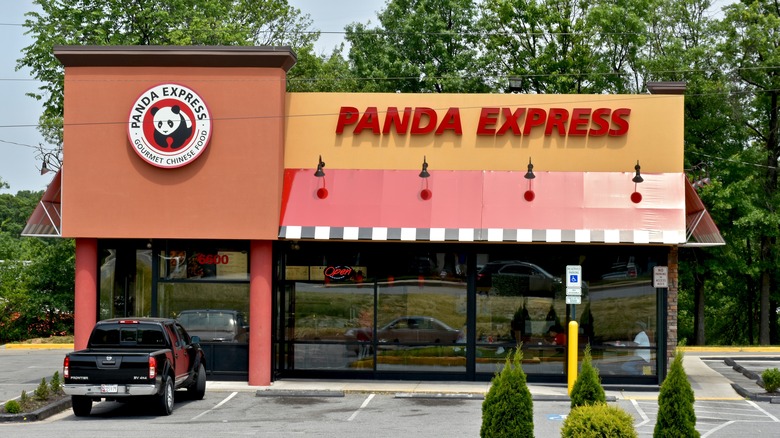
[[[735, 3], [724, 8], [725, 18], [719, 30], [723, 43], [722, 65], [730, 70], [735, 86], [740, 91], [735, 99], [742, 126], [749, 138], [742, 145], [745, 155], [760, 157], [760, 178], [746, 194], [751, 199], [751, 211], [741, 218], [755, 232], [759, 271], [759, 343], [772, 341], [770, 328], [777, 326], [777, 299], [772, 290], [777, 288], [777, 238], [780, 234], [780, 202], [778, 191], [778, 160], [780, 159], [780, 7], [777, 2], [756, 0]], [[758, 176], [758, 175], [756, 175]], [[758, 189], [758, 190], [755, 190]], [[770, 312], [773, 317], [770, 321]]]

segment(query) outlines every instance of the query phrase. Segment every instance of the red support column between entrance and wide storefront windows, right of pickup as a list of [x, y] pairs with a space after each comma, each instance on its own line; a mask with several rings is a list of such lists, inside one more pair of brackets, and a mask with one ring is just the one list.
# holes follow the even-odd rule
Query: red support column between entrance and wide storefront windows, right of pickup
[[270, 241], [249, 244], [249, 385], [271, 384], [273, 255]]

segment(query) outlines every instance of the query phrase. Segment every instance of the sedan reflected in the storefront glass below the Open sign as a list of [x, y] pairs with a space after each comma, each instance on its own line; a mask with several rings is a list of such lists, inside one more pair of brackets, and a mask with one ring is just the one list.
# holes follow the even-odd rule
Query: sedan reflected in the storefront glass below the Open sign
[[[452, 344], [461, 339], [461, 331], [430, 316], [403, 316], [396, 318], [376, 332], [377, 342], [381, 343], [429, 343]], [[347, 339], [371, 341], [373, 330], [370, 327], [350, 329]]]

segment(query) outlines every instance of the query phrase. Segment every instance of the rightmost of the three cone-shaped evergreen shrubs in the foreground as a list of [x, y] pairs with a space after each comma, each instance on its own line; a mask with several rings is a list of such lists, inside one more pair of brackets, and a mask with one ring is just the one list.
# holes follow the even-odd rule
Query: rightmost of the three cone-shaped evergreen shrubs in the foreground
[[696, 431], [696, 412], [693, 410], [695, 398], [682, 365], [683, 353], [679, 348], [669, 367], [669, 374], [661, 384], [658, 393], [658, 419], [653, 437], [698, 437]]

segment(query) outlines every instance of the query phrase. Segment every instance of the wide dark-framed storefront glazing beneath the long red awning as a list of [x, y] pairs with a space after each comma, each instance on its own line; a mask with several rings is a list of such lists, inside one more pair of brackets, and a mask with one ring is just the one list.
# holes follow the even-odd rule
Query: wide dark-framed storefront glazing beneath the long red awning
[[[489, 379], [522, 348], [529, 377], [563, 378], [574, 319], [580, 358], [590, 344], [602, 376], [657, 372], [659, 301], [651, 278], [665, 248], [314, 242], [291, 248], [282, 251], [280, 271], [282, 371]], [[567, 303], [569, 265], [582, 269], [579, 303]]]

